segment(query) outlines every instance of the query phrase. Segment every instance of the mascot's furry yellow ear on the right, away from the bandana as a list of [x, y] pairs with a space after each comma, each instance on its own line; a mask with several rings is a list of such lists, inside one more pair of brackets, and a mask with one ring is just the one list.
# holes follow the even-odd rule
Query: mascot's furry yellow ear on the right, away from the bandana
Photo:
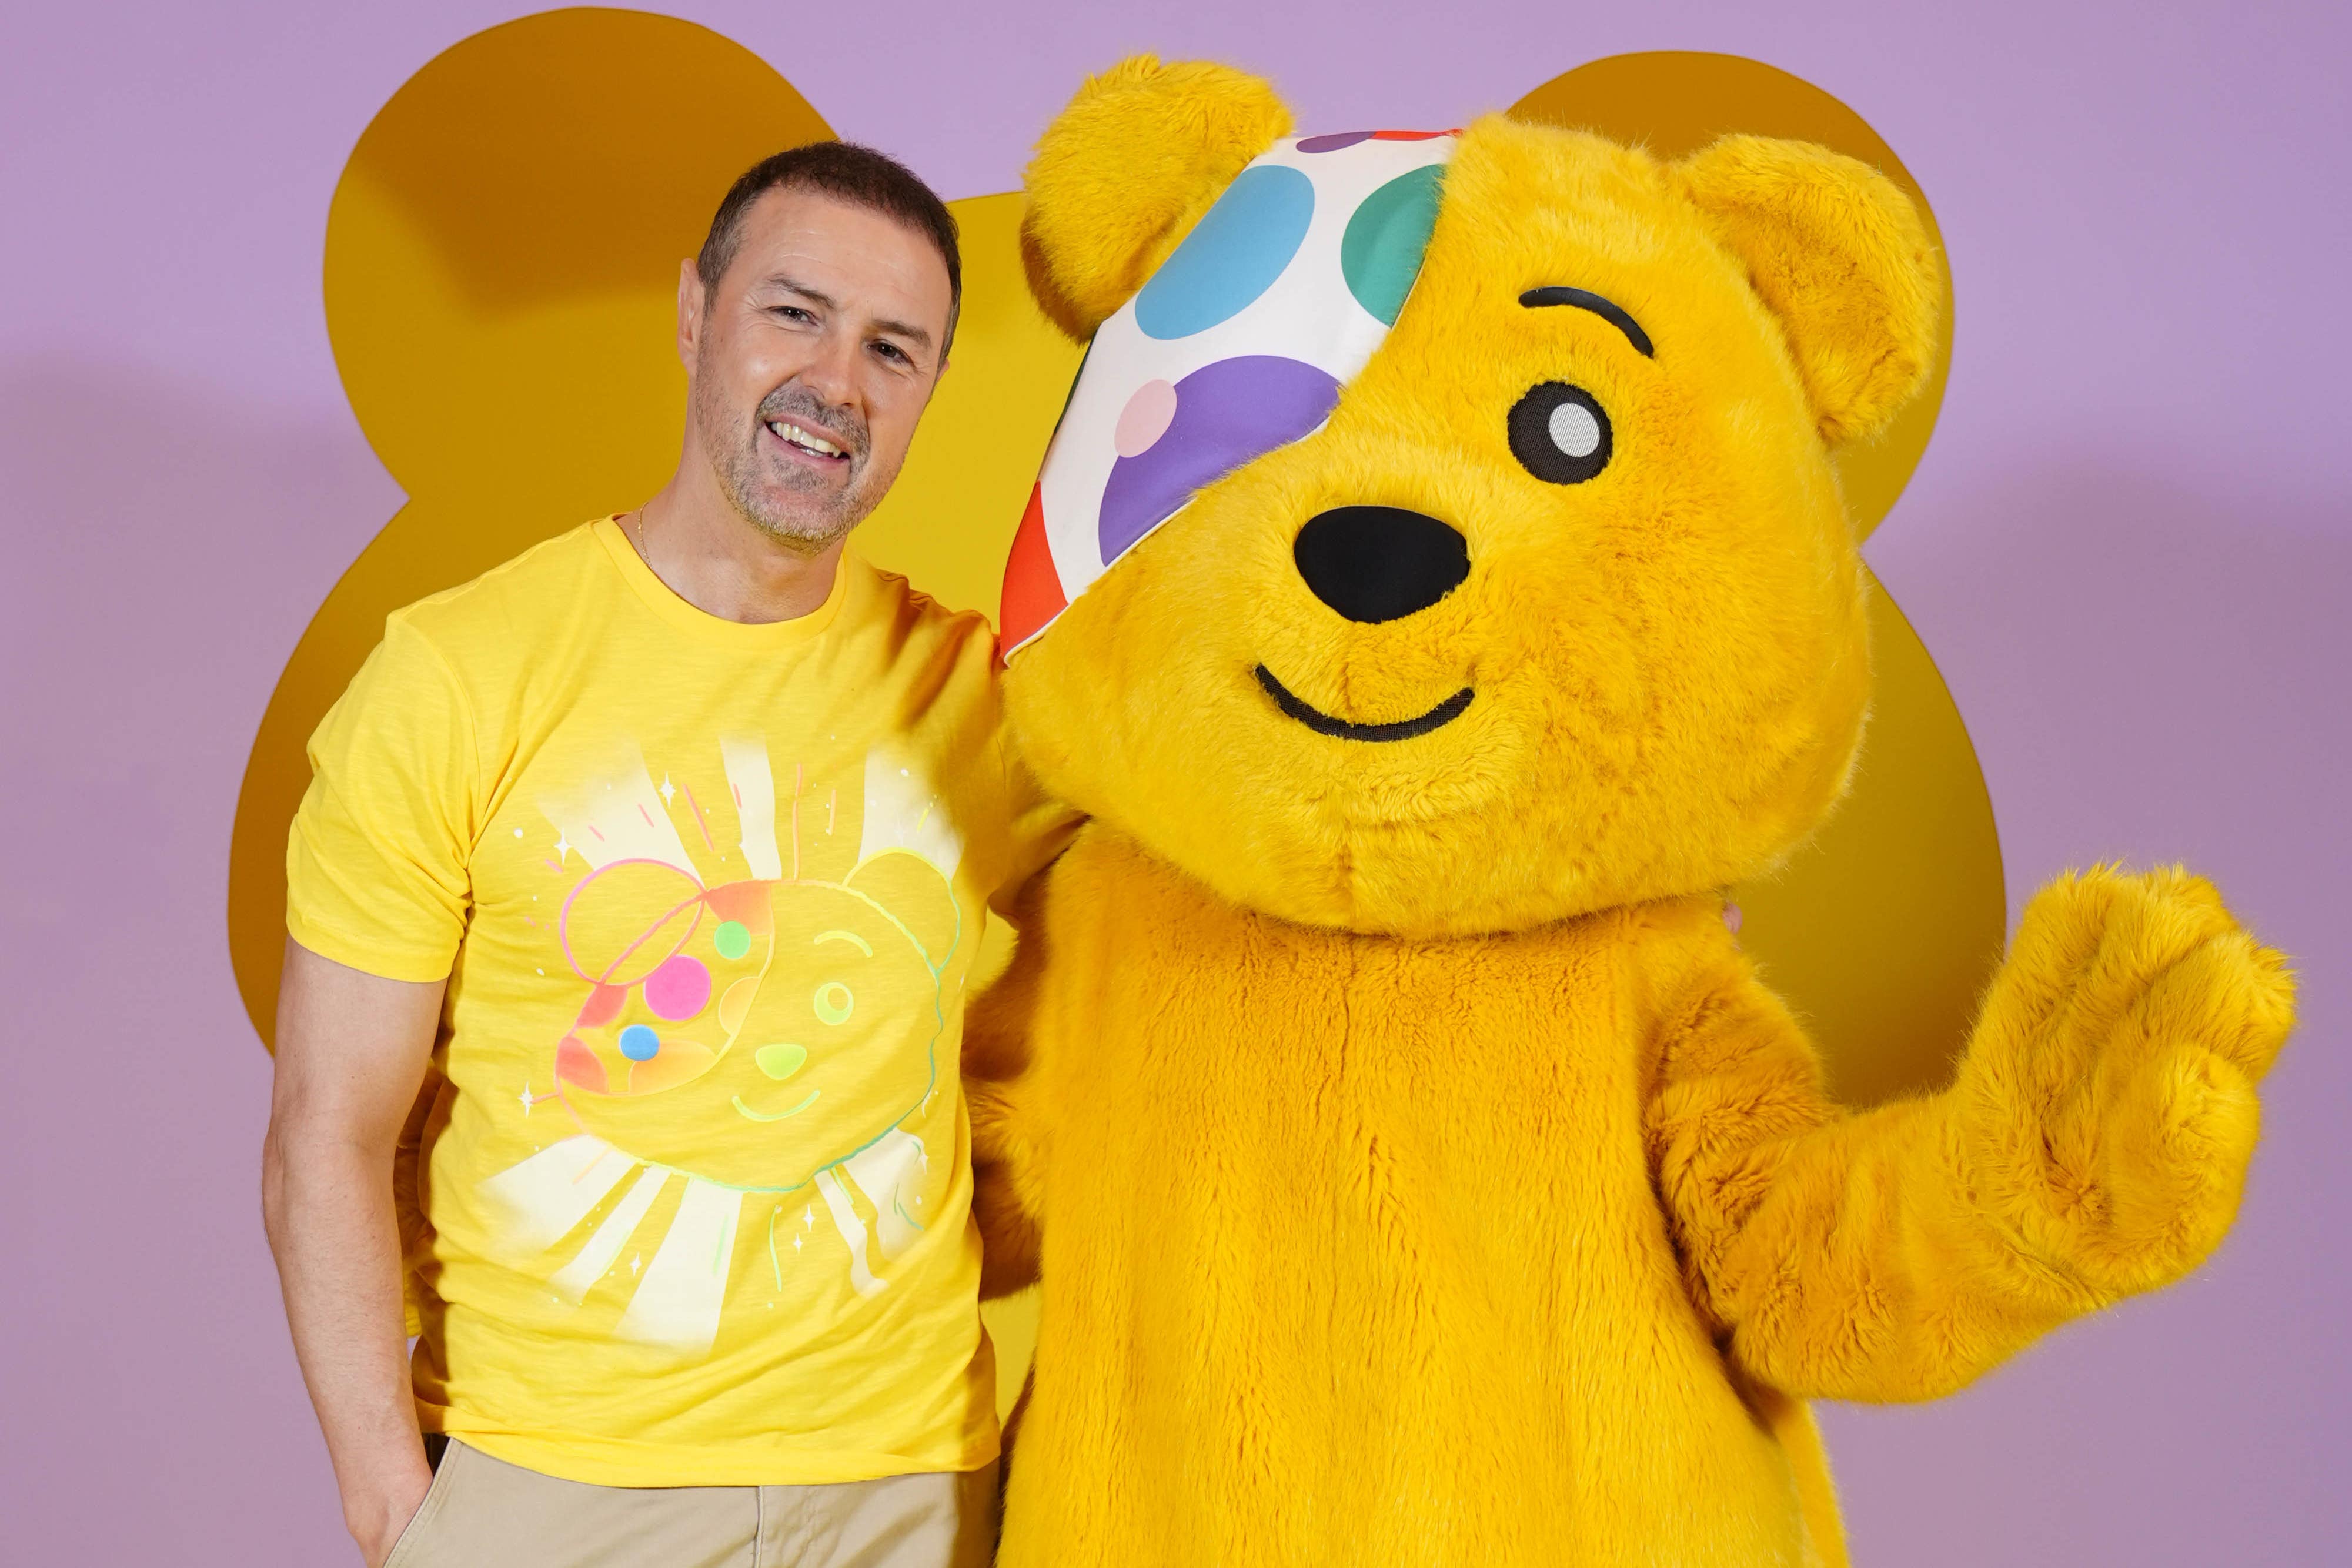
[[1832, 447], [1886, 428], [1936, 360], [1943, 275], [1919, 209], [1865, 162], [1771, 136], [1724, 136], [1675, 165], [1715, 240], [1797, 355]]

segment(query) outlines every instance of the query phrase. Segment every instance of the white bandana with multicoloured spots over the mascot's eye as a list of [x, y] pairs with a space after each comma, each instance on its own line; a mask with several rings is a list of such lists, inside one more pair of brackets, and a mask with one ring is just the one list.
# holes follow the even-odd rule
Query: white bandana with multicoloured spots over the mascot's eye
[[1454, 146], [1277, 141], [1096, 329], [1004, 567], [1007, 649], [1204, 487], [1322, 428], [1404, 310]]

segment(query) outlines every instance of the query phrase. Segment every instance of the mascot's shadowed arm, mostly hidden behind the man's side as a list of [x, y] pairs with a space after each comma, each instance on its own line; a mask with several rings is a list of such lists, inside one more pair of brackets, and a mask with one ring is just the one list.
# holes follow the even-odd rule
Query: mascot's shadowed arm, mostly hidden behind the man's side
[[971, 1213], [981, 1225], [981, 1295], [1009, 1295], [1037, 1279], [1044, 1218], [1042, 1126], [1033, 1056], [1047, 954], [1044, 870], [1014, 900], [1021, 933], [1004, 976], [964, 1016], [964, 1103], [971, 1112]]

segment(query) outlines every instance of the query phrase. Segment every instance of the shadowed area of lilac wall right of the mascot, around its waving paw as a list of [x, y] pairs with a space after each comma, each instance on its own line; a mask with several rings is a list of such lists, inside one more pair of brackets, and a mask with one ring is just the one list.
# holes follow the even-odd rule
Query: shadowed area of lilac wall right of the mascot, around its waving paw
[[[1924, 494], [1875, 550], [1950, 649], [2011, 813], [2018, 896], [2100, 856], [2209, 872], [2300, 978], [2263, 1145], [2190, 1281], [2060, 1331], [1929, 1408], [1823, 1408], [1853, 1561], [2234, 1563], [2343, 1556], [2352, 1359], [2352, 496], [2119, 444]], [[2154, 1375], [2152, 1375], [2154, 1373]], [[2194, 1476], [2152, 1505], [2150, 1476]], [[2002, 1497], [1985, 1509], [1985, 1497]], [[2030, 1547], [2027, 1547], [2030, 1542]]]

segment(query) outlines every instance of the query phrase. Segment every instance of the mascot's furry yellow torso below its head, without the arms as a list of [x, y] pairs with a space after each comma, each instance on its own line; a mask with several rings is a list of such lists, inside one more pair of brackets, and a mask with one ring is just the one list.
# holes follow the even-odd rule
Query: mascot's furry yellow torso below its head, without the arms
[[1625, 929], [1319, 931], [1080, 839], [1002, 1561], [1837, 1561], [1679, 1281]]

